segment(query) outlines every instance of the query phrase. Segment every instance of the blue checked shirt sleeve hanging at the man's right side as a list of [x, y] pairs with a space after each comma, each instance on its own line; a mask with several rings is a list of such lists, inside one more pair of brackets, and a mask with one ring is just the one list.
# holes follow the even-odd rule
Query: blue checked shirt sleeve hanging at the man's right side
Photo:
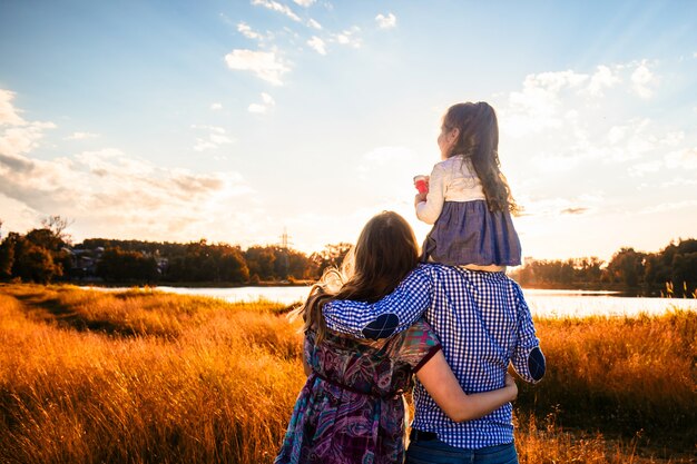
[[520, 286], [516, 285], [518, 306], [518, 344], [511, 362], [516, 372], [526, 381], [537, 383], [544, 375], [544, 356], [540, 351], [540, 340], [534, 332], [532, 315], [526, 303]]

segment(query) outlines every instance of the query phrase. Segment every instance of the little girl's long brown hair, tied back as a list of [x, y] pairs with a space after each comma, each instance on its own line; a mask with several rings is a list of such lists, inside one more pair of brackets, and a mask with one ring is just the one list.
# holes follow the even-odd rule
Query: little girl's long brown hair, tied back
[[448, 157], [464, 155], [472, 161], [474, 171], [482, 182], [487, 205], [492, 211], [518, 213], [499, 161], [499, 122], [497, 113], [487, 102], [458, 103], [443, 116], [446, 131], [459, 129], [460, 135]]

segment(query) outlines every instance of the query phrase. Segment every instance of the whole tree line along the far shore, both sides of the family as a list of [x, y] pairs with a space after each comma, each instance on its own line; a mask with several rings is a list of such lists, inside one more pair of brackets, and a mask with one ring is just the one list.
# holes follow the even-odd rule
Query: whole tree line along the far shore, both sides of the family
[[[0, 228], [2, 221], [0, 221]], [[50, 216], [24, 235], [0, 241], [0, 279], [36, 283], [101, 279], [112, 283], [262, 284], [317, 279], [340, 266], [351, 244], [326, 245], [310, 255], [277, 245], [252, 246], [90, 238], [72, 245], [69, 221]], [[697, 239], [670, 243], [658, 253], [621, 248], [609, 261], [597, 257], [537, 260], [510, 272], [524, 287], [664, 290], [695, 295]]]

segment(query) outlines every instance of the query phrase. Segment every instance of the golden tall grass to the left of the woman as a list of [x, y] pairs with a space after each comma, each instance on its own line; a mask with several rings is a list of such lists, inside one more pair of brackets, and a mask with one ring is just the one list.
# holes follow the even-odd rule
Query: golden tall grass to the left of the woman
[[[271, 305], [4, 290], [1, 462], [259, 463], [275, 453], [303, 378], [300, 336]], [[86, 329], [105, 320], [107, 332]]]

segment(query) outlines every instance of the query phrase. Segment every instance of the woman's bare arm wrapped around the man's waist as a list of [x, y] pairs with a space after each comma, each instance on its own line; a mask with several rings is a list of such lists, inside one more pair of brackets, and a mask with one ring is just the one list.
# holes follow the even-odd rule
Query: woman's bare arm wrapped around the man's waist
[[472, 421], [485, 416], [518, 396], [518, 386], [513, 377], [508, 374], [505, 374], [503, 388], [468, 395], [450, 369], [442, 351], [439, 351], [416, 371], [416, 377], [435, 404], [453, 422]]

